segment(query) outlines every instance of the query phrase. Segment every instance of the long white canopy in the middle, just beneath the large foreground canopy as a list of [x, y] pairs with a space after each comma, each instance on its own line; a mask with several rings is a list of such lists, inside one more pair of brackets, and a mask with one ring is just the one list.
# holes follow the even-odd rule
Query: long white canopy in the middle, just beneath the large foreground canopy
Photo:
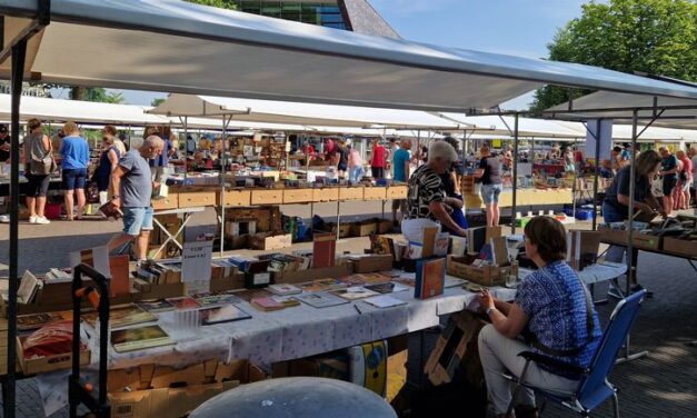
[[300, 103], [172, 93], [150, 110], [167, 116], [233, 115], [235, 120], [331, 127], [425, 127], [458, 129], [462, 123], [419, 110]]

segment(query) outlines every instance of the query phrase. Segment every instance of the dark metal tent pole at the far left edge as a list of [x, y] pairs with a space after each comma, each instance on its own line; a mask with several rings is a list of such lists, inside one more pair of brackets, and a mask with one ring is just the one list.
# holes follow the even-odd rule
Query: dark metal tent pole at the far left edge
[[19, 112], [24, 77], [27, 40], [12, 47], [11, 128], [10, 128], [10, 279], [8, 297], [8, 377], [3, 392], [4, 417], [14, 418], [17, 376], [17, 289], [19, 262]]

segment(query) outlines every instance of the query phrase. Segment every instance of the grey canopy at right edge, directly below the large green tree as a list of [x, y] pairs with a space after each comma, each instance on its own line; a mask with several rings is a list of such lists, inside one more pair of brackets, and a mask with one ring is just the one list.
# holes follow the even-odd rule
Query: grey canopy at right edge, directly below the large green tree
[[[667, 128], [697, 129], [697, 100], [678, 99], [668, 97], [656, 97], [656, 112], [654, 110], [640, 110], [638, 117], [640, 123], [647, 123], [647, 118], [658, 116], [660, 107], [693, 107], [691, 109], [666, 109], [654, 126]], [[597, 91], [574, 100], [575, 111], [584, 109], [596, 109], [593, 112], [569, 113], [569, 103], [555, 106], [549, 111], [559, 111], [560, 117], [584, 117], [584, 118], [610, 118], [616, 121], [631, 122], [631, 108], [653, 108], [654, 97], [646, 94], [627, 94], [611, 91]], [[626, 109], [621, 111], [603, 111], [598, 109]]]

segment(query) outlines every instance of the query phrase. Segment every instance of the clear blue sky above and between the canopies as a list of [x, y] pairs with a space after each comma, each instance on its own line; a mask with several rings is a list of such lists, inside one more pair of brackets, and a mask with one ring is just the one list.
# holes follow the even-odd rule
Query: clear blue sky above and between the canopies
[[[522, 57], [547, 57], [558, 28], [580, 16], [584, 0], [369, 0], [405, 39]], [[166, 93], [125, 91], [131, 104]], [[64, 97], [64, 96], [63, 96]], [[531, 96], [505, 103], [522, 109]]]

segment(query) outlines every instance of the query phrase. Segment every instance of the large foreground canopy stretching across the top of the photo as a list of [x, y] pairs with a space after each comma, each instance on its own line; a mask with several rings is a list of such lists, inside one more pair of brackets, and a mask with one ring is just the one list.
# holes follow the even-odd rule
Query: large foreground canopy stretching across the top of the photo
[[[27, 18], [36, 8], [6, 0], [0, 12]], [[6, 41], [21, 28], [14, 20]], [[691, 87], [595, 67], [166, 0], [52, 0], [51, 24], [29, 52], [27, 70], [47, 82], [300, 102], [465, 111], [542, 83], [697, 98]]]

